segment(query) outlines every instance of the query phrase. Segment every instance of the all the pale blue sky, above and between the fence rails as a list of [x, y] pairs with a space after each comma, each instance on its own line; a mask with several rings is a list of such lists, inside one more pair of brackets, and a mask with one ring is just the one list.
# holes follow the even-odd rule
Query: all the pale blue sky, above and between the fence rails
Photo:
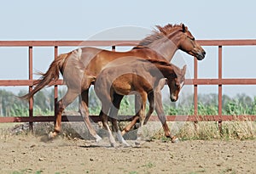
[[[255, 39], [255, 7], [255, 1], [247, 0], [0, 0], [0, 40], [101, 40], [106, 35], [140, 40], [154, 25], [169, 23], [187, 25], [195, 39]], [[203, 48], [207, 56], [199, 62], [199, 78], [217, 78], [218, 48]], [[224, 47], [223, 54], [224, 78], [255, 77], [255, 47]], [[193, 58], [180, 51], [175, 56], [183, 58], [182, 63], [189, 65], [188, 76], [193, 76]], [[34, 48], [33, 57], [34, 70], [45, 71], [53, 49]], [[0, 79], [28, 78], [27, 48], [0, 48], [0, 59]], [[200, 86], [199, 93], [218, 93], [218, 86]], [[255, 86], [225, 86], [223, 93], [254, 96], [256, 90]]]

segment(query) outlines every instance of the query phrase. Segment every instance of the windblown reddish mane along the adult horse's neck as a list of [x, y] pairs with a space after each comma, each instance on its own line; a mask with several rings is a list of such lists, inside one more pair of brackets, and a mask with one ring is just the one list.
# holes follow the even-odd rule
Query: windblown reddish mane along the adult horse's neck
[[150, 43], [154, 42], [155, 40], [159, 40], [164, 36], [169, 35], [170, 33], [172, 33], [177, 29], [182, 30], [182, 25], [183, 24], [180, 24], [180, 25], [168, 24], [163, 27], [160, 25], [155, 25], [157, 29], [154, 29], [151, 35], [145, 37], [141, 42], [139, 42], [136, 48], [148, 46]]

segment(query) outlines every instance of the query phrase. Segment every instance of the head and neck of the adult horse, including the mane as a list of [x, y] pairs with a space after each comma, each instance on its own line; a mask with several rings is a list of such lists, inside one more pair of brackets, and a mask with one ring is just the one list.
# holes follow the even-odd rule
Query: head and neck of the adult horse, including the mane
[[150, 48], [168, 61], [171, 61], [177, 49], [195, 56], [198, 60], [205, 58], [205, 50], [195, 41], [185, 25], [156, 25], [156, 28], [158, 30], [145, 37], [135, 48]]

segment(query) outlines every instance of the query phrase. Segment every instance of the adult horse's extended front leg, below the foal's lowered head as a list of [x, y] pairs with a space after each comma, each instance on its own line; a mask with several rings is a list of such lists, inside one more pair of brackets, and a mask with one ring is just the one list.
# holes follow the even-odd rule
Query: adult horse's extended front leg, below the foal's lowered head
[[172, 143], [175, 143], [175, 142], [177, 142], [177, 138], [171, 135], [171, 131], [170, 131], [169, 126], [167, 125], [167, 121], [166, 121], [165, 110], [164, 110], [163, 104], [162, 104], [161, 89], [165, 86], [165, 84], [166, 84], [166, 79], [160, 80], [158, 87], [156, 87], [154, 90], [155, 111], [157, 113], [157, 116], [158, 116], [160, 122], [162, 123], [166, 138], [171, 138]]

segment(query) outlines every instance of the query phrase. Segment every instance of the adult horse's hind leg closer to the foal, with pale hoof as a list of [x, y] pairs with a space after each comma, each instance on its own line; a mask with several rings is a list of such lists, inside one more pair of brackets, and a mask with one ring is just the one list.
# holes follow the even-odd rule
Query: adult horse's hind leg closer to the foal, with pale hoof
[[96, 133], [94, 127], [91, 125], [90, 119], [89, 119], [89, 109], [88, 109], [88, 90], [84, 90], [81, 93], [82, 101], [81, 105], [79, 107], [79, 111], [81, 115], [84, 117], [84, 123], [85, 126], [87, 127], [88, 131], [90, 132], [90, 135], [92, 135], [94, 138], [96, 138], [96, 142], [99, 142], [102, 140], [102, 138]]

